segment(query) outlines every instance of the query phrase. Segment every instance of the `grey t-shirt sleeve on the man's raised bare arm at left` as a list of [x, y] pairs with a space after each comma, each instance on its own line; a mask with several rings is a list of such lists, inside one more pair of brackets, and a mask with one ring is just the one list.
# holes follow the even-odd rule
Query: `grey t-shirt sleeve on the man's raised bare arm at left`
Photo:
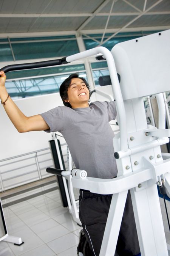
[[45, 130], [45, 132], [61, 132], [62, 130], [64, 130], [65, 118], [62, 107], [53, 108], [40, 115], [50, 128], [48, 130]]

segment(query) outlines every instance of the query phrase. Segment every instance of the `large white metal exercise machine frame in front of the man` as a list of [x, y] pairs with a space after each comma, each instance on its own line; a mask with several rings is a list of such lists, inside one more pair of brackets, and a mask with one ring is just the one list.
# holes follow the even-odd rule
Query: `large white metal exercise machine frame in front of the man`
[[[73, 187], [93, 193], [114, 194], [100, 256], [114, 255], [128, 190], [141, 255], [168, 256], [157, 185], [165, 182], [166, 188], [170, 188], [170, 154], [162, 154], [160, 148], [168, 143], [170, 137], [170, 129], [165, 129], [162, 94], [170, 87], [169, 41], [170, 30], [167, 30], [117, 44], [111, 52], [104, 47], [96, 47], [66, 57], [66, 61], [71, 62], [102, 53], [107, 60], [116, 100], [120, 127], [113, 140], [117, 178], [97, 179], [74, 174], [71, 178]], [[121, 75], [120, 85], [117, 72]], [[142, 97], [150, 94], [156, 94], [158, 102], [158, 129], [147, 126], [146, 122]]]

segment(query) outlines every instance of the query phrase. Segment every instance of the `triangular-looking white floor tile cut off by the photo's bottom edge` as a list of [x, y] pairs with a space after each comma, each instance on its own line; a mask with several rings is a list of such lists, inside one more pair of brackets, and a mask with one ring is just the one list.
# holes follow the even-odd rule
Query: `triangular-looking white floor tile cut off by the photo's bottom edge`
[[42, 245], [26, 253], [21, 254], [22, 256], [54, 256], [56, 255], [47, 245]]

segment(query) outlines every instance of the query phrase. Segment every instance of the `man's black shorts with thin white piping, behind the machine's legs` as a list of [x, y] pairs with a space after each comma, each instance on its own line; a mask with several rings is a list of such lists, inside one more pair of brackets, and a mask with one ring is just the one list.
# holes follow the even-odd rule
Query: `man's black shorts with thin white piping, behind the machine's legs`
[[[100, 195], [80, 190], [79, 217], [91, 248], [91, 255], [88, 256], [99, 256], [111, 198], [112, 195]], [[116, 251], [119, 256], [132, 256], [140, 253], [130, 191], [127, 195]]]

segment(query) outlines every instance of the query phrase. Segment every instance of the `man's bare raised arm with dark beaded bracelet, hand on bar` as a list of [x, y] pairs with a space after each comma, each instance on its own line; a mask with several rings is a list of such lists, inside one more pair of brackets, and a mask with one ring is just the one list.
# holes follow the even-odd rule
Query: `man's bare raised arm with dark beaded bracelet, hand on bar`
[[29, 132], [49, 129], [42, 116], [25, 116], [17, 105], [12, 101], [5, 88], [6, 75], [0, 71], [0, 99], [9, 119], [19, 132]]

